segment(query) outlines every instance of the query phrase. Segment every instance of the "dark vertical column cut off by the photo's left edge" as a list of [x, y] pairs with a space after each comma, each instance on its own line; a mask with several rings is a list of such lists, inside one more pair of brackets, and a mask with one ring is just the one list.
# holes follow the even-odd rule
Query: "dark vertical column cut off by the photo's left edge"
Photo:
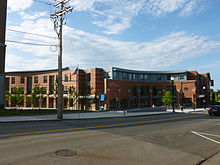
[[0, 0], [0, 109], [5, 104], [5, 28], [7, 15], [7, 0]]

